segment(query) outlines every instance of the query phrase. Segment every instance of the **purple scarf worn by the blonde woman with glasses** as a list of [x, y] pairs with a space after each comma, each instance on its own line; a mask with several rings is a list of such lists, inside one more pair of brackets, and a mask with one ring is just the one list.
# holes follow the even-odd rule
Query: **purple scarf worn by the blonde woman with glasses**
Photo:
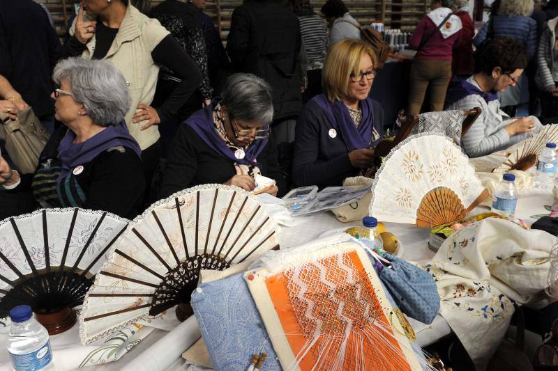
[[[349, 152], [361, 148], [370, 148], [373, 144], [372, 129], [375, 126], [372, 99], [367, 97], [365, 100], [361, 100], [362, 122], [359, 127], [354, 125], [353, 119], [349, 114], [349, 109], [345, 106], [345, 103], [340, 100], [335, 100], [335, 102], [331, 104], [327, 100], [325, 94], [316, 95], [312, 100], [324, 110], [333, 129], [341, 134]], [[383, 129], [381, 127], [382, 123], [378, 123], [378, 125], [380, 125], [380, 127], [376, 129], [381, 137]]]

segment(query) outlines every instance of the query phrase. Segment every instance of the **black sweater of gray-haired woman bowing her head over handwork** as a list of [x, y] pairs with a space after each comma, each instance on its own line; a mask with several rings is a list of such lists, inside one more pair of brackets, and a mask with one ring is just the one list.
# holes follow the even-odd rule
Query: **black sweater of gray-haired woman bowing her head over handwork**
[[[262, 175], [276, 181], [279, 194], [285, 193], [285, 174], [277, 162], [276, 143], [270, 136], [266, 148], [257, 156]], [[183, 123], [180, 125], [169, 150], [160, 198], [199, 184], [227, 182], [236, 175], [234, 163], [206, 145], [197, 133]]]

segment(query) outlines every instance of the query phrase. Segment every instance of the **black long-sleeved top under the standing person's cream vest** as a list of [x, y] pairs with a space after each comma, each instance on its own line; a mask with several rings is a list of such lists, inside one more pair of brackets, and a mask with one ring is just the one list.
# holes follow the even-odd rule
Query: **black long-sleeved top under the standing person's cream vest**
[[[44, 12], [43, 12], [44, 13]], [[99, 31], [100, 20], [97, 21], [97, 29], [96, 29], [96, 37]], [[93, 53], [94, 58], [102, 59], [107, 55], [108, 50], [110, 49], [110, 45], [114, 41], [114, 37], [116, 37], [116, 33], [112, 37], [112, 40], [109, 39], [110, 33], [109, 31], [114, 29], [109, 29], [107, 26], [100, 27], [102, 30], [102, 41], [97, 40], [96, 42], [102, 42], [103, 44], [100, 45], [101, 49], [105, 49], [106, 45], [109, 45], [109, 48], [106, 49], [106, 52], [101, 55], [101, 53], [97, 53], [97, 50]], [[108, 29], [109, 31], [107, 31]], [[75, 35], [73, 35], [68, 42], [64, 43], [63, 52], [66, 57], [68, 56], [80, 56], [82, 52], [86, 49], [86, 45], [82, 44], [80, 40], [77, 40]], [[97, 49], [97, 45], [95, 47]], [[201, 81], [201, 74], [197, 66], [195, 65], [194, 61], [186, 52], [183, 51], [181, 46], [172, 38], [172, 35], [167, 35], [159, 44], [153, 49], [151, 52], [151, 58], [153, 61], [158, 65], [165, 65], [167, 68], [171, 69], [176, 77], [181, 79], [181, 83], [174, 88], [174, 91], [165, 101], [165, 104], [157, 108], [157, 113], [161, 120], [161, 123], [165, 123], [170, 119], [176, 117], [176, 113], [178, 113], [180, 107], [188, 97], [192, 95], [194, 90], [196, 90], [197, 86], [199, 86], [199, 81]]]

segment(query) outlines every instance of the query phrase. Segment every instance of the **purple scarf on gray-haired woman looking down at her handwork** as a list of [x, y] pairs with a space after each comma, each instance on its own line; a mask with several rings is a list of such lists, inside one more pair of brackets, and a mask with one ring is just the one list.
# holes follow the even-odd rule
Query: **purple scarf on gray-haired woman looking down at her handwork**
[[[257, 139], [252, 141], [247, 148], [244, 148], [244, 158], [237, 159], [234, 157], [234, 152], [225, 145], [225, 141], [217, 132], [215, 124], [213, 123], [213, 106], [220, 102], [220, 98], [213, 99], [209, 106], [200, 109], [186, 120], [186, 125], [190, 125], [197, 133], [199, 138], [209, 145], [209, 148], [217, 152], [223, 157], [227, 157], [235, 164], [258, 166], [256, 157], [267, 145], [267, 139]], [[259, 166], [258, 166], [259, 167]]]

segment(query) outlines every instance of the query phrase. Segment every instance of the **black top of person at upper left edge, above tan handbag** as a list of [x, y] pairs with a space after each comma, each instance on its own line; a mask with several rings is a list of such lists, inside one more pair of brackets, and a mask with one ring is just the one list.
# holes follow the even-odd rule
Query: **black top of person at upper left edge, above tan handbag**
[[32, 0], [0, 0], [0, 74], [41, 118], [54, 113], [52, 69], [61, 45], [47, 13]]

